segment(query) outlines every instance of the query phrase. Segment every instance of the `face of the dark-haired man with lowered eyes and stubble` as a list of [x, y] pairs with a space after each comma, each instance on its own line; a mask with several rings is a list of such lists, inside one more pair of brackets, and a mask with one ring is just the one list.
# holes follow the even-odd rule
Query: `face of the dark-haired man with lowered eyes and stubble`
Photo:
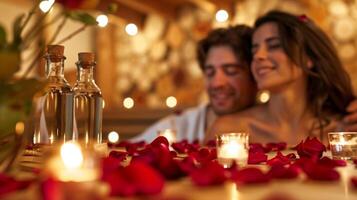
[[238, 112], [254, 103], [256, 85], [229, 46], [212, 47], [203, 71], [216, 114]]

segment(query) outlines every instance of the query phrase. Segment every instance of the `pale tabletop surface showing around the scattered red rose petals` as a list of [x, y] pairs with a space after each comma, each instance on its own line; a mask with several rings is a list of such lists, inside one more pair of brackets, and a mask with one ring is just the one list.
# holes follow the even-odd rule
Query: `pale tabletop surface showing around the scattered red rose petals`
[[[329, 156], [329, 153], [326, 155]], [[273, 156], [275, 153], [269, 154], [270, 158]], [[266, 165], [254, 166], [267, 169]], [[350, 185], [350, 178], [357, 176], [357, 167], [352, 162], [348, 162], [346, 167], [338, 167], [337, 171], [341, 175], [339, 181], [312, 181], [301, 174], [296, 179], [272, 180], [264, 184], [236, 185], [233, 182], [226, 182], [219, 186], [208, 187], [195, 186], [190, 178], [186, 177], [176, 181], [166, 181], [164, 190], [159, 195], [103, 199], [356, 200], [357, 188]], [[39, 199], [38, 186], [13, 193], [5, 199]]]

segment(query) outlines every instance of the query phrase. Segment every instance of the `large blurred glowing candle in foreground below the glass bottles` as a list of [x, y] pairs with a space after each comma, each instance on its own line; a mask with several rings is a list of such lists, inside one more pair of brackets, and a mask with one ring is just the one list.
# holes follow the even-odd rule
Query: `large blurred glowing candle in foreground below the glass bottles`
[[94, 150], [82, 149], [77, 143], [64, 143], [59, 153], [54, 152], [47, 161], [46, 172], [59, 182], [56, 187], [63, 199], [101, 199], [108, 193], [107, 185], [98, 181]]

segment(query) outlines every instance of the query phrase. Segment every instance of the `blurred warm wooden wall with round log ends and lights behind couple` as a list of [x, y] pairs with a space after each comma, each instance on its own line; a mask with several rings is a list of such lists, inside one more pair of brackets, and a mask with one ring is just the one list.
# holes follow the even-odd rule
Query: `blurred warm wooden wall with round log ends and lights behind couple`
[[[106, 14], [112, 3], [117, 10]], [[15, 17], [33, 4], [31, 0], [1, 0], [0, 23], [10, 32]], [[103, 133], [114, 130], [128, 138], [165, 115], [207, 101], [195, 55], [198, 40], [213, 28], [252, 25], [271, 9], [305, 14], [318, 23], [333, 39], [356, 91], [356, 0], [101, 0], [92, 11], [99, 25], [63, 43], [65, 76], [73, 85], [77, 53], [95, 52], [95, 79], [105, 100]], [[47, 20], [61, 12], [57, 6], [48, 10], [44, 5], [41, 10]], [[80, 26], [68, 21], [59, 35], [66, 36]], [[39, 33], [38, 43], [46, 43], [55, 31]], [[24, 65], [36, 48], [23, 52]], [[30, 75], [42, 76], [43, 72], [43, 62], [39, 62]]]

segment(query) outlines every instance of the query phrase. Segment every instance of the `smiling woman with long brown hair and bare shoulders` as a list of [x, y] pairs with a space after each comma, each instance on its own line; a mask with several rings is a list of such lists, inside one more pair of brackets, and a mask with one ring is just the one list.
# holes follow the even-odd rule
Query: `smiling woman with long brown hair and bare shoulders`
[[251, 70], [267, 104], [219, 119], [214, 134], [246, 131], [251, 142], [326, 138], [354, 99], [350, 78], [327, 35], [306, 16], [271, 11], [254, 25]]

